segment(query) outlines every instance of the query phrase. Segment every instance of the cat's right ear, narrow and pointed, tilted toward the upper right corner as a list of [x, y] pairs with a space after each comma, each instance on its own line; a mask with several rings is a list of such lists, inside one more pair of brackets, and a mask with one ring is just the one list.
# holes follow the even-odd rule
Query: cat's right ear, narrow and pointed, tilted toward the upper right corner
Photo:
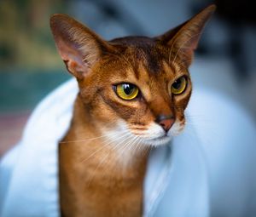
[[210, 5], [192, 19], [159, 37], [155, 37], [155, 39], [172, 49], [174, 52], [173, 60], [178, 55], [182, 58], [183, 63], [189, 66], [201, 37], [201, 32], [215, 9], [215, 5]]

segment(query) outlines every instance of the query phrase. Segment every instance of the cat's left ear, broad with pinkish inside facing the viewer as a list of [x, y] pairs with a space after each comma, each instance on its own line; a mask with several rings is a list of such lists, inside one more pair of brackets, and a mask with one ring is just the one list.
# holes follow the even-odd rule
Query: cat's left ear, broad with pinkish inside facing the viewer
[[65, 14], [54, 14], [50, 28], [62, 60], [75, 77], [83, 78], [110, 45]]

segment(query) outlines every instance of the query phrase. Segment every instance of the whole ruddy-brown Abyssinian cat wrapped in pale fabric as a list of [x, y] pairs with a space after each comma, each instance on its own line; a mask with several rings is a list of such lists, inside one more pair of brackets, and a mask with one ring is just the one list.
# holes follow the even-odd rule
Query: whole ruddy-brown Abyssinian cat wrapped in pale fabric
[[188, 68], [214, 9], [159, 37], [108, 42], [67, 15], [51, 17], [56, 47], [79, 84], [59, 146], [62, 216], [143, 215], [150, 147], [184, 128]]

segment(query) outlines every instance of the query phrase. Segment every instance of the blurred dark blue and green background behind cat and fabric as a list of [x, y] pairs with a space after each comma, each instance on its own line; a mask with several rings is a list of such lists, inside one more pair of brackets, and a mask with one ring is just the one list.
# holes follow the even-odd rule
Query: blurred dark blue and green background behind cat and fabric
[[69, 14], [102, 37], [155, 36], [216, 3], [190, 71], [195, 89], [222, 92], [256, 120], [256, 13], [248, 0], [0, 0], [0, 157], [32, 109], [71, 76], [56, 52], [50, 14]]

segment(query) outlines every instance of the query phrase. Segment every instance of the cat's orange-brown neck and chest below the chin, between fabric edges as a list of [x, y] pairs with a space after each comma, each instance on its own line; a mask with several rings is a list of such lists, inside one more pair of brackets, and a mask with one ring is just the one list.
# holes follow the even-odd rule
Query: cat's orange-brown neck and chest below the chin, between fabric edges
[[[59, 146], [61, 213], [142, 216], [148, 151], [121, 153], [97, 127], [78, 97], [71, 126]], [[129, 212], [123, 214], [126, 208]]]

